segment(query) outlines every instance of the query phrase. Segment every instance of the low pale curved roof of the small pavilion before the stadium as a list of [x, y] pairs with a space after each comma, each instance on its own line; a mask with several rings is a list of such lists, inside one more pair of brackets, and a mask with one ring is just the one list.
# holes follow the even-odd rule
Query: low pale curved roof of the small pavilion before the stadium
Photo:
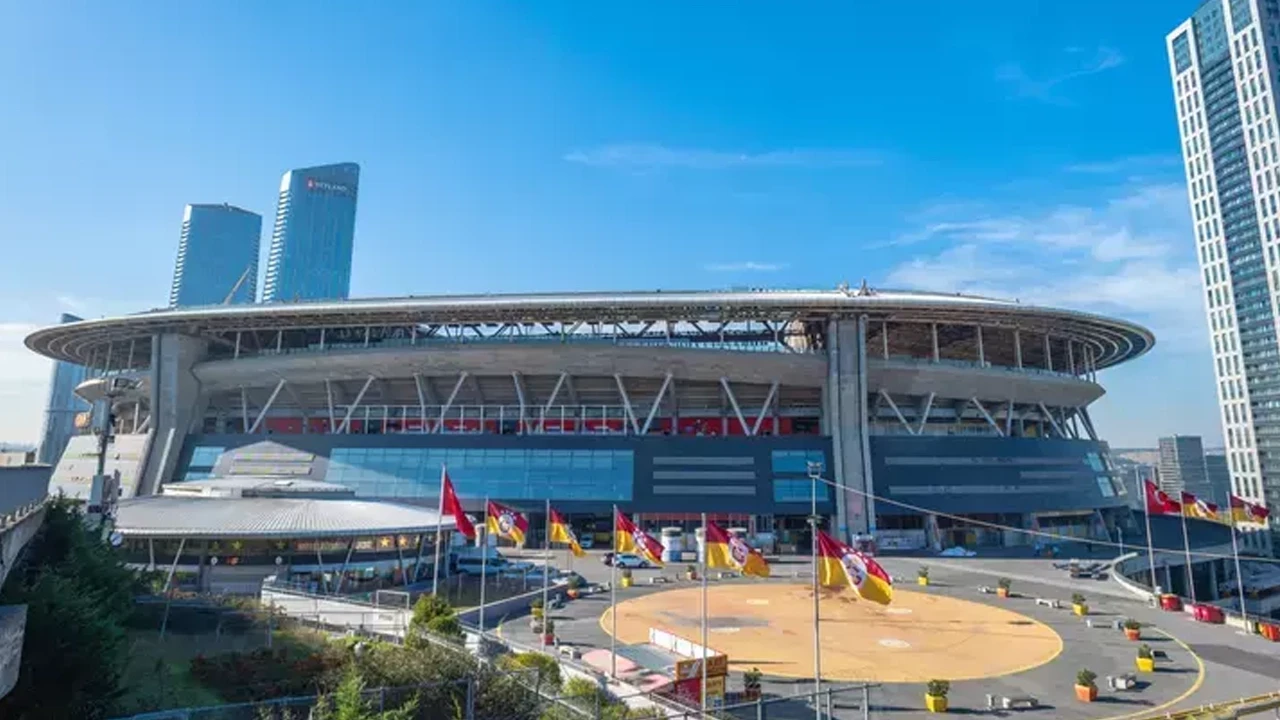
[[[196, 497], [154, 495], [122, 500], [115, 529], [148, 538], [320, 538], [434, 532], [434, 510], [371, 500]], [[452, 518], [444, 529], [454, 527]]]

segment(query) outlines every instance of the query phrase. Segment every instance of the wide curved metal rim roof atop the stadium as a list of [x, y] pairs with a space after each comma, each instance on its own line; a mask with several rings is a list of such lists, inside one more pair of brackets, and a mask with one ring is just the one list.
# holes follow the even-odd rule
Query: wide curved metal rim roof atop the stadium
[[[36, 331], [27, 347], [52, 357], [91, 364], [109, 343], [148, 347], [155, 333], [215, 333], [415, 323], [626, 323], [646, 320], [739, 322], [819, 320], [867, 314], [874, 320], [1007, 324], [1046, 328], [1091, 340], [1105, 368], [1142, 355], [1155, 345], [1151, 331], [1126, 320], [959, 293], [861, 288], [730, 290], [652, 292], [563, 292], [456, 295], [340, 301], [219, 305], [154, 310], [120, 318], [65, 323]], [[142, 350], [145, 352], [145, 350]], [[142, 352], [138, 359], [145, 357]]]

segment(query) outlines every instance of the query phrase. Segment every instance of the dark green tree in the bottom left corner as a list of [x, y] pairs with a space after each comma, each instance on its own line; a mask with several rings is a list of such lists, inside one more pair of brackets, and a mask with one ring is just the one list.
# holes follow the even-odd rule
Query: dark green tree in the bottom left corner
[[27, 605], [18, 683], [0, 700], [0, 717], [108, 716], [127, 661], [124, 625], [143, 589], [74, 502], [51, 501], [0, 588], [0, 605]]

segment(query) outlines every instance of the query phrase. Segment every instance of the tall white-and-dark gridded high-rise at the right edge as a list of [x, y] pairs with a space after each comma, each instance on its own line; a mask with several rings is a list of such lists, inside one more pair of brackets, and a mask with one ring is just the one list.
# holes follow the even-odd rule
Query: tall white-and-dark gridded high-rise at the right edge
[[1276, 0], [1207, 0], [1166, 38], [1231, 488], [1274, 509], [1272, 534], [1280, 529], [1277, 23]]

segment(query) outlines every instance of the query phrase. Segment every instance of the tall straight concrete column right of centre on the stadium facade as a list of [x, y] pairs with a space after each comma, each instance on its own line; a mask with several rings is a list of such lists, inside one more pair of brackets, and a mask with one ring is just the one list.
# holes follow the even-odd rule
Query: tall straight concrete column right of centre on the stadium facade
[[831, 436], [832, 479], [852, 491], [836, 497], [840, 536], [867, 533], [876, 528], [873, 503], [861, 492], [872, 492], [870, 443], [867, 437], [867, 316], [827, 324], [827, 387], [823, 392], [823, 424]]

